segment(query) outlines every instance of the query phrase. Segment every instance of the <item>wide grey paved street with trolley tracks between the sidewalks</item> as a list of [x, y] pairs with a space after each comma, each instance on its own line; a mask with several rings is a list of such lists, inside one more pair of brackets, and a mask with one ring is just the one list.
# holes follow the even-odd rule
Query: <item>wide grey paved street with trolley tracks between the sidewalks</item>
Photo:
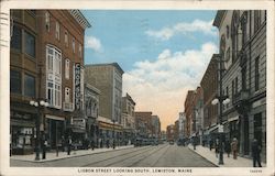
[[216, 167], [188, 147], [157, 145], [47, 161], [42, 163], [11, 160], [11, 166], [38, 167]]

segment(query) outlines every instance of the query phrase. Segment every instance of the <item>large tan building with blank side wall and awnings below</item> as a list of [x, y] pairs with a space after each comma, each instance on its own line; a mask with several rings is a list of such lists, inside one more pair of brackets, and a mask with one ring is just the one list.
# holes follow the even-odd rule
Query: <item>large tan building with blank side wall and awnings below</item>
[[[122, 75], [118, 63], [85, 66], [85, 80], [100, 90], [99, 139], [102, 143], [122, 141]], [[110, 142], [112, 143], [112, 142]]]

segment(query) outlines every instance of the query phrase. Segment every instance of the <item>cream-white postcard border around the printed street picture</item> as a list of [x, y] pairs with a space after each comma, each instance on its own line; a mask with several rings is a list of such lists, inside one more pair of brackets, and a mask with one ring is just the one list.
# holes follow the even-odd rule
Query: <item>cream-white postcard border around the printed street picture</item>
[[[64, 3], [66, 2], [66, 3]], [[270, 1], [164, 1], [164, 0], [151, 0], [151, 1], [88, 1], [88, 0], [3, 0], [1, 3], [1, 12], [8, 12], [10, 9], [90, 9], [90, 10], [233, 10], [233, 9], [262, 9], [267, 10], [267, 35], [266, 35], [266, 62], [267, 62], [267, 167], [261, 168], [262, 173], [253, 174], [251, 168], [207, 168], [207, 167], [188, 167], [193, 169], [193, 173], [184, 173], [176, 175], [274, 175], [274, 2]], [[62, 6], [61, 6], [62, 4]], [[87, 8], [89, 7], [89, 8]], [[91, 24], [92, 25], [92, 24]], [[3, 31], [2, 31], [3, 30]], [[1, 28], [1, 38], [2, 32], [4, 32], [4, 37], [10, 35], [9, 28]], [[0, 50], [0, 175], [91, 175], [78, 173], [77, 167], [9, 167], [9, 130], [10, 130], [10, 84], [9, 84], [9, 72], [10, 72], [10, 51], [9, 48], [1, 47]], [[121, 167], [123, 168], [123, 167]], [[165, 167], [170, 168], [170, 167]], [[176, 167], [175, 167], [176, 168]], [[185, 167], [187, 168], [187, 167]], [[153, 169], [153, 168], [150, 168]], [[96, 173], [94, 175], [110, 175], [110, 173]], [[175, 175], [175, 174], [136, 174], [136, 173], [112, 173], [111, 175]]]

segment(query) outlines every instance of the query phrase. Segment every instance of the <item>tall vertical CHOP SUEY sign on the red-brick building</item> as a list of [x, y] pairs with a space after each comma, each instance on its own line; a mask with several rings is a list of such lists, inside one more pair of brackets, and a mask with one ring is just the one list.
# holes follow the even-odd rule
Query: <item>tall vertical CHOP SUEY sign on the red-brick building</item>
[[75, 66], [75, 109], [80, 110], [80, 70], [81, 66], [79, 63]]

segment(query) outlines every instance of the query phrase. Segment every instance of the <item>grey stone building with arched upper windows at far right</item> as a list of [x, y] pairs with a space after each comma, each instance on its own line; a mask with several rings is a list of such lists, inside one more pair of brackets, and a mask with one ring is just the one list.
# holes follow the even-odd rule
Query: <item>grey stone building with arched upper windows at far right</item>
[[224, 61], [222, 95], [231, 99], [222, 109], [226, 138], [238, 138], [241, 155], [251, 155], [257, 139], [266, 161], [266, 11], [219, 10], [213, 25]]

